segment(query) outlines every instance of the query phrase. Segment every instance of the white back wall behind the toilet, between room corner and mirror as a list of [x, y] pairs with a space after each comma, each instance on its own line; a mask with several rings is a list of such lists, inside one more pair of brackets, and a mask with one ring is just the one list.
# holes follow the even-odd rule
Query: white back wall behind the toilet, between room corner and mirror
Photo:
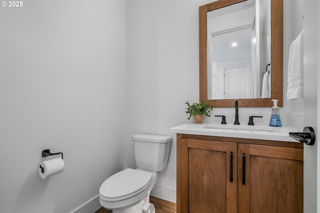
[[[174, 202], [176, 141], [169, 128], [187, 122], [185, 101], [199, 99], [198, 6], [210, 1], [127, 1], [127, 140], [135, 133], [174, 138], [168, 166], [156, 182], [162, 188], [155, 193]], [[128, 144], [127, 152], [131, 149]]]

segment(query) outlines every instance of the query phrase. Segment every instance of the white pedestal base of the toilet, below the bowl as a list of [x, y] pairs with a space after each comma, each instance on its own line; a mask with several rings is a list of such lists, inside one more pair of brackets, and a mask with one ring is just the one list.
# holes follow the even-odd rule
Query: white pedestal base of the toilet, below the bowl
[[113, 210], [112, 213], [155, 213], [153, 204], [149, 203], [149, 195], [140, 202], [125, 209]]

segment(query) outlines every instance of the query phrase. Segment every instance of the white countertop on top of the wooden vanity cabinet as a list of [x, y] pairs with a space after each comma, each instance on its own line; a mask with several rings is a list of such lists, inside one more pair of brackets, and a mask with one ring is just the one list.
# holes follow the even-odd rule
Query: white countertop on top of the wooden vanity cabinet
[[301, 130], [289, 126], [269, 127], [227, 124], [223, 125], [209, 123], [186, 123], [180, 126], [170, 128], [170, 132], [190, 135], [207, 135], [300, 143], [294, 140], [293, 138], [290, 138], [289, 132], [301, 132]]

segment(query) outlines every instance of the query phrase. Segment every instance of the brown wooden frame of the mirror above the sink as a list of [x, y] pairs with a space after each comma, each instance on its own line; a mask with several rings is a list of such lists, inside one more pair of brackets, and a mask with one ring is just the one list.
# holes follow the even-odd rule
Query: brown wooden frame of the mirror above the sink
[[[199, 6], [199, 80], [200, 102], [212, 107], [234, 107], [234, 99], [212, 99], [207, 95], [207, 28], [206, 13], [244, 0], [217, 0]], [[282, 107], [283, 98], [283, 1], [271, 0], [271, 98], [238, 99], [239, 107], [271, 107], [271, 99], [277, 99]]]

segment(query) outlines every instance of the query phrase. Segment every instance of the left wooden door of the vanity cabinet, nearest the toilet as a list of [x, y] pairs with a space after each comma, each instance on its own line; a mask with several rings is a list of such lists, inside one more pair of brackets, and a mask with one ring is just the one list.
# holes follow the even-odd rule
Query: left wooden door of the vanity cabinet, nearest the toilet
[[180, 139], [177, 213], [236, 213], [237, 145]]

